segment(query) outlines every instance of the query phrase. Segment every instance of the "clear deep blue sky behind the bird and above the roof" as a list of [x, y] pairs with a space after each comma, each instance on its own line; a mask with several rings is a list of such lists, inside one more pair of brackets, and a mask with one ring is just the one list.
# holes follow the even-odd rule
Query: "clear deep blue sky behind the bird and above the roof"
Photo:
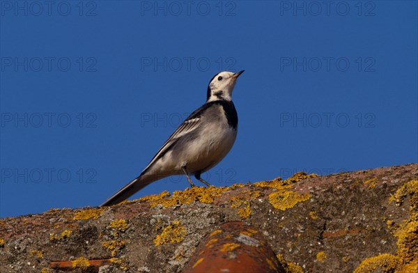
[[[1, 1], [0, 217], [99, 205], [220, 70], [217, 186], [418, 162], [417, 1]], [[196, 182], [197, 184], [197, 182]], [[132, 196], [185, 189], [167, 178]]]

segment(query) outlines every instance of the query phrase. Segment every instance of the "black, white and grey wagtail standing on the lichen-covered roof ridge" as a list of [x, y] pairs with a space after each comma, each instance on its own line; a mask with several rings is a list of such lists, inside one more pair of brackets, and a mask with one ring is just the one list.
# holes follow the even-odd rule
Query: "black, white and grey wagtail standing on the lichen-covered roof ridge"
[[100, 206], [116, 205], [140, 189], [167, 176], [189, 175], [204, 185], [201, 173], [218, 164], [231, 150], [238, 132], [238, 114], [232, 102], [232, 92], [238, 77], [244, 72], [223, 71], [210, 79], [206, 102], [192, 112], [165, 141], [141, 174], [113, 194]]

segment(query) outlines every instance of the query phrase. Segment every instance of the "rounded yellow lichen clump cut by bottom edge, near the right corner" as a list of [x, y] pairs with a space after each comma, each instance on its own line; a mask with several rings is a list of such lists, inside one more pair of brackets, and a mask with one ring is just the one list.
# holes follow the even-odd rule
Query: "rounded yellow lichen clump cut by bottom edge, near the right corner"
[[400, 260], [398, 257], [385, 253], [376, 257], [366, 258], [360, 263], [360, 265], [354, 270], [354, 273], [371, 273], [375, 272], [378, 268], [382, 272], [394, 272], [398, 267]]

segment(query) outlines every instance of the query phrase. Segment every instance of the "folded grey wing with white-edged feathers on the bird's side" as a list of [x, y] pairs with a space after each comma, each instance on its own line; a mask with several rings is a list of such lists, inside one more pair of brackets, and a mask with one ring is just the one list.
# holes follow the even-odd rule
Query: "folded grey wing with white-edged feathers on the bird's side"
[[192, 131], [196, 130], [196, 128], [199, 127], [200, 120], [201, 120], [201, 117], [198, 116], [198, 117], [189, 118], [189, 119], [186, 119], [185, 121], [183, 121], [183, 123], [181, 123], [180, 126], [178, 126], [176, 131], [174, 131], [173, 134], [171, 134], [171, 136], [169, 137], [169, 139], [167, 139], [167, 141], [162, 145], [160, 150], [158, 150], [157, 154], [153, 157], [153, 159], [151, 159], [150, 163], [145, 167], [145, 169], [144, 169], [144, 171], [142, 171], [142, 173], [145, 173], [146, 170], [151, 165], [153, 165], [154, 162], [157, 161], [157, 159], [160, 159], [160, 157], [162, 157], [162, 155], [167, 153], [167, 150], [174, 143], [176, 143], [176, 141], [178, 141], [178, 139], [180, 139], [180, 137], [184, 136], [185, 134], [188, 134], [189, 132], [192, 132]]

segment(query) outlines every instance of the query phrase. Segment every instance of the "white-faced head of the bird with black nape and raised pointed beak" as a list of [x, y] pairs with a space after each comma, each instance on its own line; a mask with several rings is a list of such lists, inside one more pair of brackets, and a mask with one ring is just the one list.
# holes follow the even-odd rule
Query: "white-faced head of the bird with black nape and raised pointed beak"
[[240, 76], [242, 72], [244, 72], [244, 70], [236, 73], [223, 71], [213, 76], [209, 82], [208, 99], [206, 102], [231, 100], [233, 87], [235, 86], [238, 76]]

